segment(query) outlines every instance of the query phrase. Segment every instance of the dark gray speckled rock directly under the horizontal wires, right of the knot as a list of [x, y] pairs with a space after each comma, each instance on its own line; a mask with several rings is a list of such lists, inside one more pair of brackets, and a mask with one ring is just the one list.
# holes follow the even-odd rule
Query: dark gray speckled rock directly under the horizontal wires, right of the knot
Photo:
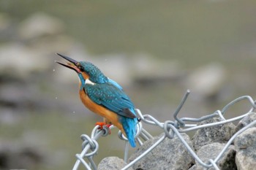
[[[204, 125], [207, 123], [215, 123], [219, 121], [219, 117], [213, 117], [211, 119], [202, 121], [200, 124]], [[192, 139], [195, 150], [198, 150], [200, 147], [206, 144], [211, 144], [214, 142], [227, 142], [233, 136], [233, 134], [235, 134], [235, 128], [236, 126], [233, 125], [233, 123], [226, 123], [197, 130]]]

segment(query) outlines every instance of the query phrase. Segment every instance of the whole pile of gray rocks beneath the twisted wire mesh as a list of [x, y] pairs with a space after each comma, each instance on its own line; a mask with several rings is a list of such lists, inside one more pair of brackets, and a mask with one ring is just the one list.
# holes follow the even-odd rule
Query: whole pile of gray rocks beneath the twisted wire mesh
[[[203, 163], [208, 163], [210, 159], [217, 158], [220, 152], [241, 128], [244, 128], [252, 121], [255, 121], [256, 113], [252, 112], [244, 117], [238, 125], [227, 123], [224, 125], [217, 125], [210, 128], [203, 128], [197, 130], [192, 139], [187, 134], [181, 134], [182, 138], [189, 144], [189, 147], [194, 150], [198, 158]], [[205, 120], [202, 124], [219, 122], [219, 118], [211, 118]], [[247, 129], [239, 134], [236, 139], [227, 147], [222, 157], [217, 161], [217, 166], [222, 170], [246, 170], [255, 169], [255, 153], [256, 153], [256, 128], [255, 126]], [[164, 134], [161, 134], [162, 136]], [[135, 153], [129, 158], [129, 162], [138, 158], [143, 152], [151, 147], [160, 136], [149, 139]], [[126, 166], [123, 160], [116, 157], [104, 158], [98, 166], [99, 170], [121, 169]], [[165, 138], [154, 150], [148, 153], [144, 158], [135, 163], [130, 169], [189, 169], [189, 170], [203, 170], [204, 167], [193, 158], [188, 152], [184, 144], [175, 136], [173, 139]], [[209, 169], [214, 170], [214, 167]]]

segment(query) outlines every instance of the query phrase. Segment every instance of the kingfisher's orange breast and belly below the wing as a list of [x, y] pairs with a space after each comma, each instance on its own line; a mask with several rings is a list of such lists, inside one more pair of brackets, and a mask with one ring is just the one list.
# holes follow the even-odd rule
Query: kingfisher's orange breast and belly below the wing
[[119, 128], [123, 134], [125, 134], [123, 125], [119, 123], [118, 115], [116, 113], [106, 109], [105, 107], [102, 107], [96, 104], [94, 101], [91, 100], [91, 98], [89, 98], [89, 96], [87, 96], [84, 90], [79, 90], [79, 95], [80, 95], [81, 101], [88, 109], [90, 109], [92, 112], [96, 113], [97, 115], [105, 117], [109, 122], [111, 122], [113, 125]]

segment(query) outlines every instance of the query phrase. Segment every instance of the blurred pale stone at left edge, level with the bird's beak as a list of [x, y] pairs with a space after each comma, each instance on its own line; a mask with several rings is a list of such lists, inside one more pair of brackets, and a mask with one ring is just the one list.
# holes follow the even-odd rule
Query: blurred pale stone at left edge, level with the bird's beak
[[18, 42], [1, 45], [0, 55], [1, 76], [27, 78], [32, 72], [47, 70], [53, 63], [53, 60], [45, 57], [48, 52], [41, 53]]

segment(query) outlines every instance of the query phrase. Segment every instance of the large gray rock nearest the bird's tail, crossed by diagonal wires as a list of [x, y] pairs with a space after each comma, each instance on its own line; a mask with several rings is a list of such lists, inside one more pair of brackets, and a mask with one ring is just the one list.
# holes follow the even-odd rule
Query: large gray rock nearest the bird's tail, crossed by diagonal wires
[[[138, 150], [131, 155], [129, 162], [138, 158], [148, 147], [157, 142], [162, 136], [154, 137], [146, 141]], [[192, 147], [192, 142], [187, 134], [182, 134], [183, 138]], [[148, 153], [144, 158], [135, 163], [133, 169], [189, 169], [193, 163], [193, 158], [184, 147], [184, 144], [175, 136], [173, 139], [165, 140]]]

